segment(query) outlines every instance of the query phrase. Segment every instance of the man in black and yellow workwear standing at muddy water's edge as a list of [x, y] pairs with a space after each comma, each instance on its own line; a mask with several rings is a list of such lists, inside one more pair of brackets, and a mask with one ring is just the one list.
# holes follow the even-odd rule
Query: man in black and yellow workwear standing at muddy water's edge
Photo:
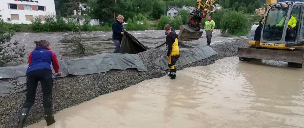
[[176, 68], [175, 63], [180, 57], [179, 48], [178, 48], [178, 35], [171, 31], [171, 27], [169, 24], [164, 26], [166, 33], [168, 33], [166, 37], [166, 45], [168, 48], [167, 59], [169, 61], [168, 67], [170, 68], [169, 76], [171, 79], [175, 79], [176, 77]]

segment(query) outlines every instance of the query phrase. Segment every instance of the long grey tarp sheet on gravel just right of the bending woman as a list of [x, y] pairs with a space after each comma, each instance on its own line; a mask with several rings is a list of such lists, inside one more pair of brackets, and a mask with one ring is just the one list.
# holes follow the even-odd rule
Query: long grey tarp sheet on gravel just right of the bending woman
[[106, 72], [111, 69], [126, 70], [127, 68], [137, 68], [138, 71], [147, 71], [143, 62], [136, 54], [98, 54], [64, 61], [67, 70], [73, 75], [94, 74]]

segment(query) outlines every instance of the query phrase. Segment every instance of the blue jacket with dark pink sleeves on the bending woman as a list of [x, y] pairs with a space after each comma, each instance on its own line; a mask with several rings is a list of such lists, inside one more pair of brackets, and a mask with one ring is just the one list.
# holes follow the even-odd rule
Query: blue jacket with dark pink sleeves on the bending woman
[[55, 72], [58, 72], [59, 64], [56, 54], [48, 50], [47, 47], [36, 47], [31, 54], [29, 54], [29, 67], [26, 70], [26, 74], [38, 69], [49, 69], [52, 71], [51, 64], [53, 64]]

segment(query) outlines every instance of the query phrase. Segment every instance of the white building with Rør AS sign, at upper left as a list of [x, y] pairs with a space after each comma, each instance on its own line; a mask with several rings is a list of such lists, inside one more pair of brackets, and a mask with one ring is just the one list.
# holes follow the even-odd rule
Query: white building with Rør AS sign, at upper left
[[42, 21], [47, 13], [56, 15], [54, 0], [1, 0], [0, 15], [9, 23], [30, 24], [34, 16]]

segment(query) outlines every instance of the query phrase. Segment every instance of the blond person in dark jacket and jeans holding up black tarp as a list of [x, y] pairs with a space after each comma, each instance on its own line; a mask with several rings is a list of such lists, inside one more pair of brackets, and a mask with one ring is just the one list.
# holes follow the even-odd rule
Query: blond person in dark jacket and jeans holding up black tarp
[[112, 31], [113, 31], [113, 35], [112, 35], [112, 39], [114, 42], [114, 46], [115, 46], [115, 50], [113, 53], [118, 53], [119, 51], [119, 47], [120, 47], [120, 42], [123, 39], [123, 19], [125, 19], [123, 17], [123, 15], [118, 15], [117, 20], [113, 23], [112, 25]]

